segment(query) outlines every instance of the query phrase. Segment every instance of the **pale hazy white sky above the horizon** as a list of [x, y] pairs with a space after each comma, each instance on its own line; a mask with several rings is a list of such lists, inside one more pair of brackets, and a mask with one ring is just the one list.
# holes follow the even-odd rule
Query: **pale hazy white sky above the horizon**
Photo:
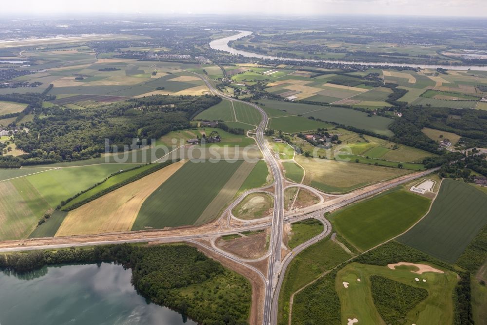
[[[1, 13], [141, 13], [483, 16], [487, 0], [21, 0], [2, 1]], [[1, 15], [1, 14], [0, 14]]]

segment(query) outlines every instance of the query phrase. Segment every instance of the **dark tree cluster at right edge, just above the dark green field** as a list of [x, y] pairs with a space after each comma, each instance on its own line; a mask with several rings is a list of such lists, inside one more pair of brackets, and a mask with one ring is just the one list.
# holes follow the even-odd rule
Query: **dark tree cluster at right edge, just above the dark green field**
[[468, 156], [464, 160], [455, 163], [444, 164], [440, 169], [442, 178], [463, 178], [466, 182], [471, 182], [475, 178], [472, 171], [487, 177], [487, 155]]

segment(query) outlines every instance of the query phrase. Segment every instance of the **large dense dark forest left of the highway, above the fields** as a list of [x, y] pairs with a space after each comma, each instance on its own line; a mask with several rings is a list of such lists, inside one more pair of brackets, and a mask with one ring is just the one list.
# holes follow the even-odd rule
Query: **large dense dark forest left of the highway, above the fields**
[[[18, 132], [15, 144], [28, 154], [19, 164], [52, 163], [98, 157], [105, 152], [105, 139], [123, 151], [133, 139], [150, 143], [171, 130], [189, 127], [202, 110], [220, 102], [216, 96], [157, 95], [101, 108], [76, 110], [58, 106], [41, 108], [29, 133]], [[0, 159], [1, 163], [1, 159]], [[4, 167], [15, 167], [2, 164]]]

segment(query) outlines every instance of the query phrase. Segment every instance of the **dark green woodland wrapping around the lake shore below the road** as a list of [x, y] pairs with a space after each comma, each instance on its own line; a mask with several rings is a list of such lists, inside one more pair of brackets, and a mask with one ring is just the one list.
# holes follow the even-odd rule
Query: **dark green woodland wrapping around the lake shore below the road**
[[248, 324], [248, 281], [186, 244], [119, 244], [0, 255], [0, 269], [17, 273], [44, 265], [100, 262], [131, 268], [132, 284], [141, 295], [198, 324]]

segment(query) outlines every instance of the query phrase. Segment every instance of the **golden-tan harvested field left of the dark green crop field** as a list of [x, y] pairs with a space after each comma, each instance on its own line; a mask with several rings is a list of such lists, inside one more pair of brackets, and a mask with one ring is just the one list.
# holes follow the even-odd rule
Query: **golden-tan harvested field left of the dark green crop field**
[[172, 163], [68, 213], [56, 236], [90, 235], [132, 228], [142, 203], [186, 161]]

